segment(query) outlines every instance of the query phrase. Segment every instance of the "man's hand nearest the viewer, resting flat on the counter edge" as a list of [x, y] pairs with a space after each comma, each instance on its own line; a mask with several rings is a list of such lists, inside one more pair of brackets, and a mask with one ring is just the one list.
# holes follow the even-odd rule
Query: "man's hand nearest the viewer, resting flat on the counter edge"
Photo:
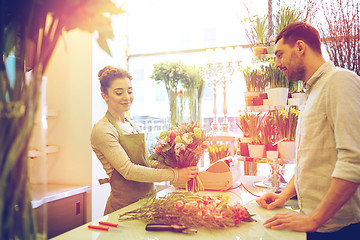
[[264, 227], [274, 230], [290, 229], [299, 232], [315, 232], [319, 224], [311, 217], [301, 213], [277, 213], [264, 222]]

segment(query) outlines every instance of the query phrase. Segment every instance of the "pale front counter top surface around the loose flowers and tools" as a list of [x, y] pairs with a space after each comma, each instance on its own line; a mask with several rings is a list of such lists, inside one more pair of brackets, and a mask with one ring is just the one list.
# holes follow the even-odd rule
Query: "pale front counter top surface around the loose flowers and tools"
[[[267, 189], [256, 188], [253, 186], [254, 182], [261, 181], [263, 177], [258, 176], [243, 176], [241, 182], [246, 186], [254, 195], [261, 195]], [[267, 240], [305, 240], [306, 234], [303, 232], [294, 232], [290, 230], [271, 230], [266, 229], [262, 226], [262, 223], [268, 218], [272, 217], [276, 212], [289, 212], [297, 211], [297, 204], [295, 200], [290, 200], [285, 207], [278, 208], [276, 210], [266, 210], [260, 208], [255, 202], [255, 196], [250, 194], [243, 187], [237, 187], [228, 191], [202, 191], [199, 195], [205, 195], [211, 193], [212, 195], [227, 194], [230, 197], [230, 203], [239, 202], [244, 205], [251, 214], [255, 214], [253, 217], [256, 222], [243, 222], [237, 227], [231, 227], [220, 230], [206, 230], [203, 228], [198, 229], [196, 234], [184, 234], [184, 233], [172, 233], [172, 232], [147, 232], [145, 231], [146, 223], [142, 221], [125, 221], [119, 223], [125, 228], [120, 228], [121, 232], [115, 231], [99, 231], [88, 229], [88, 225], [99, 225], [99, 221], [106, 221], [112, 223], [118, 223], [118, 218], [121, 213], [128, 212], [141, 206], [140, 202], [131, 204], [125, 208], [115, 211], [109, 215], [106, 215], [100, 219], [94, 220], [93, 222], [84, 224], [78, 228], [75, 228], [69, 232], [61, 234], [53, 240], [68, 240], [68, 239], [140, 239], [140, 240], [169, 240], [169, 239], [242, 239], [242, 240], [253, 240], [253, 239], [267, 239]], [[178, 190], [175, 187], [169, 187], [158, 193], [158, 196], [165, 196], [170, 191]]]

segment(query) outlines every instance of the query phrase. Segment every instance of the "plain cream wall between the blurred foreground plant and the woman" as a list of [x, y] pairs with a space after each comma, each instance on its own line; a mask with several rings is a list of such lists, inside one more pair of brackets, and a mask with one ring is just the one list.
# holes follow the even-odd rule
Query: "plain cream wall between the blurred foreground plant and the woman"
[[[91, 185], [91, 48], [91, 34], [65, 33], [45, 73], [48, 109], [58, 113], [48, 119], [47, 143], [59, 146], [58, 153], [48, 155], [48, 183]], [[91, 218], [90, 208], [87, 216]]]

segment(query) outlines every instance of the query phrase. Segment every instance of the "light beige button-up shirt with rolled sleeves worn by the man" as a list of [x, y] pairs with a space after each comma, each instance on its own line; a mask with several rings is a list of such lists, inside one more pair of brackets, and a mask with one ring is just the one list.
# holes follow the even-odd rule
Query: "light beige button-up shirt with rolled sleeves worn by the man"
[[[301, 212], [310, 214], [332, 177], [360, 183], [360, 77], [324, 63], [306, 84], [296, 134], [295, 188]], [[360, 222], [360, 188], [319, 232]]]

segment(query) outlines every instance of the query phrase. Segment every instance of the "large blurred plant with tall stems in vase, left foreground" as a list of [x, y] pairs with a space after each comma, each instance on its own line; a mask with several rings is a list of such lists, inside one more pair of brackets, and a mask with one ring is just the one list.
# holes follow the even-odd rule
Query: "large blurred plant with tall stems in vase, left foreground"
[[[110, 54], [111, 0], [2, 0], [0, 7], [0, 238], [37, 239], [28, 146], [42, 75], [63, 32], [98, 32]], [[15, 63], [11, 66], [11, 59]], [[32, 70], [25, 78], [25, 69]]]

